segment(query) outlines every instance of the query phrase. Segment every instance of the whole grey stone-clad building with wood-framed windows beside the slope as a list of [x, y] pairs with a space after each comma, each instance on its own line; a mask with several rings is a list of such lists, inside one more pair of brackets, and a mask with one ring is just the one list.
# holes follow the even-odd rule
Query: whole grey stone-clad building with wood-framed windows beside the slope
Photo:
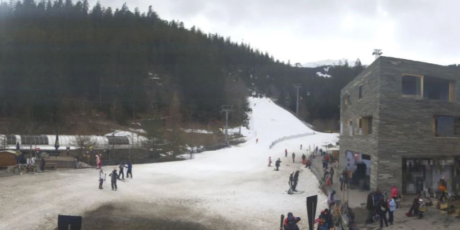
[[340, 99], [339, 162], [352, 184], [460, 191], [460, 72], [379, 57]]

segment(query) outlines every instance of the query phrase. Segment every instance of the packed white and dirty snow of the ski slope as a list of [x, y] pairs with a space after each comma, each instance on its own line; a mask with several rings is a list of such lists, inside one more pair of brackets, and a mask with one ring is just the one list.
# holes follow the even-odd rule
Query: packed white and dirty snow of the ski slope
[[[109, 180], [99, 190], [99, 170], [95, 169], [2, 177], [0, 229], [54, 229], [59, 214], [82, 215], [85, 226], [85, 220], [101, 206], [114, 209], [107, 215], [110, 221], [123, 224], [120, 229], [130, 229], [131, 219], [126, 215], [164, 218], [165, 225], [189, 221], [206, 229], [277, 229], [280, 215], [288, 212], [301, 216], [299, 225], [307, 229], [306, 197], [319, 196], [319, 212], [326, 207], [326, 196], [319, 193], [316, 178], [300, 163], [301, 155], [307, 154], [308, 146], [333, 142], [337, 134], [316, 132], [269, 149], [280, 137], [313, 131], [270, 99], [248, 100], [252, 113], [247, 142], [195, 154], [191, 160], [133, 165], [133, 178], [119, 181], [118, 191], [110, 190]], [[296, 163], [292, 163], [292, 152]], [[269, 156], [272, 167], [267, 167]], [[278, 157], [280, 171], [273, 171]], [[103, 167], [107, 177], [114, 167]], [[301, 171], [297, 190], [303, 193], [288, 195], [289, 173], [295, 170]], [[119, 205], [125, 208], [118, 210]], [[101, 220], [86, 229], [104, 229], [102, 224]]]

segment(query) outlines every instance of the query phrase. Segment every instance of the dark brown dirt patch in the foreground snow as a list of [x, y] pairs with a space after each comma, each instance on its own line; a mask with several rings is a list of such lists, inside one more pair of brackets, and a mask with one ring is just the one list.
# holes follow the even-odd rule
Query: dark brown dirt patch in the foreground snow
[[93, 211], [84, 213], [82, 220], [82, 229], [211, 230], [234, 229], [234, 227], [234, 224], [226, 222], [219, 216], [206, 219], [203, 212], [186, 206], [131, 201], [105, 203]]

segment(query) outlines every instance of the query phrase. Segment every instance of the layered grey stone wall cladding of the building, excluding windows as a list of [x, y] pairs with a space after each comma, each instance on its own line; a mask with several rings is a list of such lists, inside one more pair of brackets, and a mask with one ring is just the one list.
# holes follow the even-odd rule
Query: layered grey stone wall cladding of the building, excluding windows
[[[417, 74], [453, 82], [454, 100], [431, 100], [402, 97], [403, 74]], [[460, 140], [435, 137], [433, 116], [460, 117], [460, 73], [449, 67], [379, 57], [341, 90], [340, 164], [346, 165], [347, 150], [371, 155], [371, 189], [395, 185], [402, 188], [403, 158], [460, 156]], [[358, 100], [358, 86], [363, 97]], [[344, 108], [343, 97], [350, 95], [351, 106]], [[373, 132], [349, 135], [347, 121], [373, 116]], [[343, 159], [343, 160], [342, 160]], [[452, 178], [451, 178], [452, 179]]]

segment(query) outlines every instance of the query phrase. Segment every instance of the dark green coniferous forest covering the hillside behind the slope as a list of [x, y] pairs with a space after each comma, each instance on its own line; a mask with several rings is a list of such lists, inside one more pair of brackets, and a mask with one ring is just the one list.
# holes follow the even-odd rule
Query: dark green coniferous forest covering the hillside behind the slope
[[[282, 45], [282, 44], [273, 44]], [[257, 46], [257, 44], [256, 44]], [[64, 117], [94, 116], [127, 124], [169, 116], [179, 122], [246, 119], [251, 91], [295, 111], [294, 83], [302, 83], [300, 115], [338, 127], [340, 89], [363, 70], [303, 68], [280, 62], [199, 25], [146, 12], [89, 6], [86, 0], [3, 1], [0, 4], [0, 117], [59, 126]], [[171, 115], [174, 113], [174, 116]]]

